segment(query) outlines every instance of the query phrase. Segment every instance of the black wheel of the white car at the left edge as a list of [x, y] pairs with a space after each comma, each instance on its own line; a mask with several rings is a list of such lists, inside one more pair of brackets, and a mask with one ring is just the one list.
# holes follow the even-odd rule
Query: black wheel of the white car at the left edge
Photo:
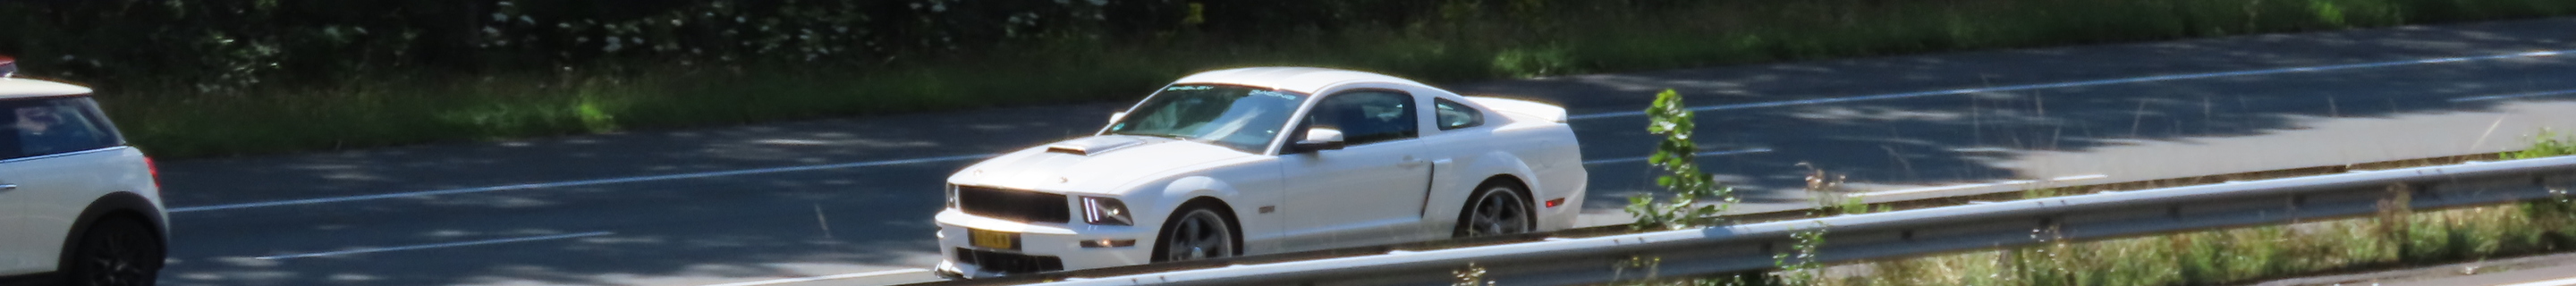
[[165, 255], [152, 224], [108, 216], [80, 232], [62, 268], [72, 286], [152, 286]]

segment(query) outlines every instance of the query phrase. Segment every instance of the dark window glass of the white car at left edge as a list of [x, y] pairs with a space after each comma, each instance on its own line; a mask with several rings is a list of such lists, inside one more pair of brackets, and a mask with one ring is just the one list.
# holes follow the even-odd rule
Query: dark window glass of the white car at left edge
[[8, 126], [0, 131], [0, 155], [8, 160], [124, 144], [88, 95], [0, 100], [0, 111], [8, 111], [0, 116], [0, 126]]

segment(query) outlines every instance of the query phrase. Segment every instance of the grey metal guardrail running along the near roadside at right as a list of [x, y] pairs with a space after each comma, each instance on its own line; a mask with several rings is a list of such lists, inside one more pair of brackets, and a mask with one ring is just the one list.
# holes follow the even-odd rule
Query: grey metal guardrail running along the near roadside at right
[[[1821, 263], [2099, 240], [2159, 232], [2285, 224], [2411, 209], [2481, 206], [2566, 196], [2576, 157], [2468, 162], [2403, 170], [2115, 191], [1914, 211], [1850, 214], [1708, 229], [1543, 240], [1450, 250], [1249, 263], [1170, 273], [1069, 278], [1046, 286], [1445, 286], [1453, 271], [1481, 265], [1512, 286], [1607, 283], [1649, 276], [1705, 276], [1772, 268], [1795, 232], [1824, 229]], [[1628, 260], [1659, 260], [1636, 268]]]

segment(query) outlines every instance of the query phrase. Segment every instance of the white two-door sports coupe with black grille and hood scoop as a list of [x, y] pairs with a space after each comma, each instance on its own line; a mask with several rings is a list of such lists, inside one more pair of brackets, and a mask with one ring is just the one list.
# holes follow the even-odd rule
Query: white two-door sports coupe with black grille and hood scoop
[[1558, 106], [1316, 67], [1182, 77], [1100, 134], [948, 175], [940, 276], [1551, 232], [1584, 165]]

